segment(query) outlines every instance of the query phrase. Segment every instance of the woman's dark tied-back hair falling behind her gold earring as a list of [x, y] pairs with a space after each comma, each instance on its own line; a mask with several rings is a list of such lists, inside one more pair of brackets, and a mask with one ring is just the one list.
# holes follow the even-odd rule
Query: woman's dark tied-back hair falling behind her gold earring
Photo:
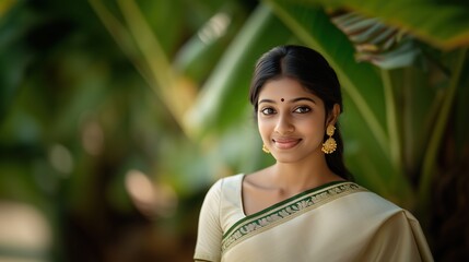
[[[326, 109], [326, 119], [332, 112], [335, 104], [342, 112], [342, 94], [336, 72], [317, 51], [303, 46], [279, 46], [266, 52], [257, 61], [250, 84], [249, 99], [257, 117], [259, 93], [269, 80], [291, 78], [298, 81], [307, 91], [323, 99]], [[327, 140], [324, 135], [324, 140]], [[340, 135], [339, 123], [336, 123], [333, 139], [337, 150], [326, 154], [328, 167], [340, 177], [352, 180], [353, 176], [343, 163], [343, 141]]]

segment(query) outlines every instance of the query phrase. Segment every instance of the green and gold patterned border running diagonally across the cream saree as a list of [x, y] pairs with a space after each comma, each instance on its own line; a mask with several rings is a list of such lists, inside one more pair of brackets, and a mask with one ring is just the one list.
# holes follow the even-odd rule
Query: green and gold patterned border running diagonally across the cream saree
[[295, 215], [303, 214], [313, 207], [326, 204], [339, 196], [360, 191], [367, 190], [349, 181], [329, 182], [318, 188], [306, 190], [266, 210], [246, 216], [236, 222], [223, 234], [222, 252], [234, 246], [238, 240], [267, 230], [280, 222], [291, 219]]

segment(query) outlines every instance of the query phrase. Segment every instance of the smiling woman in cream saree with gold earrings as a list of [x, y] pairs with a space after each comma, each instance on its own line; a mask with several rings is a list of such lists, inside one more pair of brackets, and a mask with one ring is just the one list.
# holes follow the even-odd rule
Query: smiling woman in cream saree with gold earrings
[[432, 261], [419, 222], [352, 182], [342, 160], [335, 71], [281, 46], [250, 86], [262, 150], [275, 164], [219, 180], [203, 202], [196, 261]]

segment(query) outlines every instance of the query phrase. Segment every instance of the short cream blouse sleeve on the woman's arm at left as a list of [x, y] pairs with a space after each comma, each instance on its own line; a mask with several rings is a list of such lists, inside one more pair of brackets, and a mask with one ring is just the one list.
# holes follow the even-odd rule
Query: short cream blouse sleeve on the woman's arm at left
[[220, 201], [223, 180], [216, 181], [203, 200], [199, 215], [195, 260], [220, 261], [223, 230], [220, 222]]

